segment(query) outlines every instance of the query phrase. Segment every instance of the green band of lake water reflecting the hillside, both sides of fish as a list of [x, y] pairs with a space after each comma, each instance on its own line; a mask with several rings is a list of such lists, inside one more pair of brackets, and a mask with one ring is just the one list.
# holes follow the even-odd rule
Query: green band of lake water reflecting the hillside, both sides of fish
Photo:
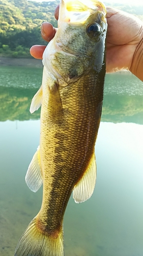
[[[0, 109], [2, 109], [0, 112], [0, 121], [39, 119], [40, 110], [31, 115], [29, 109], [31, 100], [41, 85], [42, 69], [37, 68], [37, 74], [34, 72], [34, 68], [19, 67], [16, 71], [14, 71], [13, 67], [9, 67], [8, 70], [6, 67], [3, 67], [3, 69], [5, 70], [5, 72], [3, 70], [3, 73], [6, 77], [4, 78], [4, 74], [0, 75]], [[8, 72], [9, 69], [10, 72]], [[20, 71], [23, 69], [24, 72], [22, 71], [22, 74]], [[19, 72], [18, 83], [16, 83], [15, 73], [19, 74]], [[8, 77], [7, 73], [9, 74]], [[11, 77], [14, 76], [11, 86], [10, 74]], [[24, 78], [20, 79], [22, 75], [25, 78], [24, 83], [21, 82]], [[33, 79], [35, 82], [33, 82]], [[31, 84], [30, 80], [32, 80]], [[23, 88], [23, 84], [25, 83], [26, 86]], [[102, 121], [143, 124], [142, 82], [133, 75], [126, 73], [106, 75]]]

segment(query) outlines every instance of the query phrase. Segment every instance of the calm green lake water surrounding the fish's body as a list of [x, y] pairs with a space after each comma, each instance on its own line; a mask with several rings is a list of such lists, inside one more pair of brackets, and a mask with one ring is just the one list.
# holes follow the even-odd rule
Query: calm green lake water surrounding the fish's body
[[[30, 114], [42, 69], [0, 66], [0, 255], [13, 256], [37, 215], [42, 188], [25, 174], [39, 145], [40, 111]], [[96, 143], [97, 183], [87, 202], [70, 199], [65, 256], [143, 255], [143, 83], [124, 72], [106, 75]]]

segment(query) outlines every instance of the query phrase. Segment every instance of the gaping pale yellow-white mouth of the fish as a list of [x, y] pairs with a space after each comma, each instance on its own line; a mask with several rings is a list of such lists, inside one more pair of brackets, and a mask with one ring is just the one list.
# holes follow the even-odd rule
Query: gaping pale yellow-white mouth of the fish
[[106, 8], [97, 0], [61, 0], [59, 12], [59, 27], [66, 22], [71, 25], [83, 25], [95, 11], [100, 11], [106, 16]]

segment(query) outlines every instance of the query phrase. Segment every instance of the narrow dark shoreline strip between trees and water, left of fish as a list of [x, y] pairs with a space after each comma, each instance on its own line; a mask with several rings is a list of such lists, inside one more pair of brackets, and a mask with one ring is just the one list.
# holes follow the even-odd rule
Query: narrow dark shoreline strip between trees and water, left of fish
[[42, 60], [35, 58], [9, 58], [0, 56], [0, 66], [43, 67]]

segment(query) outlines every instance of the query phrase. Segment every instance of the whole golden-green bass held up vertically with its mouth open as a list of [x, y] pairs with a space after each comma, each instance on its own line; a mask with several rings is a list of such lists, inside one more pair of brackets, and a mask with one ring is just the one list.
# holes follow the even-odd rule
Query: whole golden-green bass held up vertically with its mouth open
[[25, 181], [42, 205], [22, 234], [15, 256], [63, 256], [63, 218], [73, 192], [88, 200], [96, 183], [97, 139], [105, 79], [106, 8], [96, 0], [61, 0], [58, 30], [43, 53], [40, 145]]

